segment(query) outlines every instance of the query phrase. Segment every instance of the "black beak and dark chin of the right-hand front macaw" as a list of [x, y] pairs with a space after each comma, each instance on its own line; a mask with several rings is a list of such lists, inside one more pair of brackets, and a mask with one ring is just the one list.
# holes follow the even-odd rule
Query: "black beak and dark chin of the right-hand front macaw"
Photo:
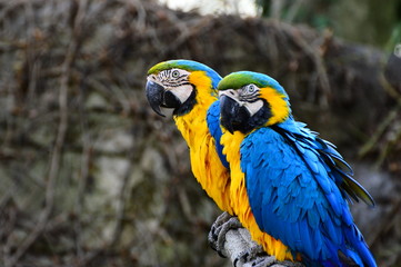
[[241, 131], [250, 117], [248, 109], [234, 99], [224, 95], [220, 97], [220, 123], [228, 131]]

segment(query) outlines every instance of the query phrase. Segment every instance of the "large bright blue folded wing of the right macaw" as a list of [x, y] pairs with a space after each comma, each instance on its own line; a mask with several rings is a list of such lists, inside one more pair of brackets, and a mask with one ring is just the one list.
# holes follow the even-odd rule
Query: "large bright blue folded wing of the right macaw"
[[311, 266], [343, 266], [338, 251], [375, 266], [343, 198], [345, 178], [324, 159], [333, 147], [315, 141], [304, 125], [287, 123], [279, 130], [260, 128], [241, 145], [241, 168], [259, 227], [301, 253]]

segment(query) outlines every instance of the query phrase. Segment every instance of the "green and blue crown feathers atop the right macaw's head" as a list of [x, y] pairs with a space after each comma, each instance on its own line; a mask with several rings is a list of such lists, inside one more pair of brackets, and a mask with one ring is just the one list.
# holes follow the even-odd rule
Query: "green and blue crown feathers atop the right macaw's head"
[[218, 90], [240, 89], [247, 85], [253, 83], [259, 88], [271, 87], [287, 95], [280, 83], [273, 78], [253, 71], [238, 71], [225, 76], [218, 86]]

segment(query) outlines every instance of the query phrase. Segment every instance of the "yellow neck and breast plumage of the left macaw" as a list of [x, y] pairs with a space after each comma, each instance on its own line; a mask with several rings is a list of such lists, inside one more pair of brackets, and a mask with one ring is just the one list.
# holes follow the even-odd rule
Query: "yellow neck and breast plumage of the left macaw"
[[220, 209], [232, 214], [230, 174], [221, 164], [207, 122], [208, 109], [217, 100], [211, 79], [203, 71], [193, 71], [189, 81], [197, 90], [197, 103], [188, 113], [174, 116], [174, 120], [189, 147], [193, 176]]

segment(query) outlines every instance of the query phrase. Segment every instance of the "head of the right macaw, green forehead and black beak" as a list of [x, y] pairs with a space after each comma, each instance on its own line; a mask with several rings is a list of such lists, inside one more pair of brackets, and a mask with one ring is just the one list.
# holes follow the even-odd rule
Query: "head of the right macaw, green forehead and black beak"
[[218, 86], [221, 125], [249, 134], [253, 129], [284, 121], [291, 115], [289, 97], [278, 81], [252, 71], [225, 76]]

